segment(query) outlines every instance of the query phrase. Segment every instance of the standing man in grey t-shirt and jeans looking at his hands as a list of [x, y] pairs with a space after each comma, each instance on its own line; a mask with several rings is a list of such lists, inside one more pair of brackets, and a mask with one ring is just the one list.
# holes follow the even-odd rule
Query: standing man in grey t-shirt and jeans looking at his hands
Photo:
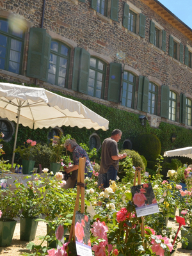
[[116, 180], [118, 172], [118, 161], [127, 156], [126, 153], [118, 154], [117, 142], [122, 137], [122, 131], [115, 129], [111, 133], [111, 137], [102, 143], [100, 173], [102, 174], [102, 183], [104, 188], [109, 187], [109, 180]]

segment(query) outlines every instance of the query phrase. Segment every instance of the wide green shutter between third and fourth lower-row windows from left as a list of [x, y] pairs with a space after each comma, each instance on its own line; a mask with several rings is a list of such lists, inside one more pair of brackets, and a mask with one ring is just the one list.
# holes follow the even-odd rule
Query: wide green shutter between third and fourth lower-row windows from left
[[108, 100], [113, 102], [120, 101], [120, 87], [122, 77], [122, 64], [110, 63]]

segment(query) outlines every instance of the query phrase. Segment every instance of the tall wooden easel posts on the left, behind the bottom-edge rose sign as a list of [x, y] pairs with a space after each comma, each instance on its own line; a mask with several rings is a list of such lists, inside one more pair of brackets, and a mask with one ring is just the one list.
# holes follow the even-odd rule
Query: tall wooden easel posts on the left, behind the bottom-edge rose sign
[[72, 240], [76, 241], [75, 237], [75, 220], [76, 220], [76, 211], [79, 210], [79, 198], [80, 198], [80, 191], [81, 191], [81, 213], [84, 212], [84, 166], [86, 162], [86, 157], [79, 158], [79, 170], [77, 176], [77, 197], [76, 197], [76, 204], [74, 207], [74, 216], [72, 218], [72, 224], [70, 227], [70, 234], [68, 237], [68, 241]]

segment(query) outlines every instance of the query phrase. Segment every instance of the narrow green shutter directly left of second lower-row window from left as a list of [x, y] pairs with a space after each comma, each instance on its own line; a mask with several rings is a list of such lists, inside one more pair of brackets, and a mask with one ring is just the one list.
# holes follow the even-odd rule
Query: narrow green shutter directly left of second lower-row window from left
[[51, 50], [51, 36], [46, 33], [45, 44], [44, 44], [44, 60], [42, 67], [42, 80], [47, 81], [48, 70], [49, 70], [49, 56]]

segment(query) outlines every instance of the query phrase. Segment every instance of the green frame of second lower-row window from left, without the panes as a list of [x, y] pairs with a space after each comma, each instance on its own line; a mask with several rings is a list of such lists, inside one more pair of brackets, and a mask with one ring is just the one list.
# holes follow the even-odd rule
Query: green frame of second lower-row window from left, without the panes
[[[60, 86], [61, 88], [68, 88], [68, 72], [69, 72], [69, 66], [70, 66], [70, 52], [71, 52], [71, 49], [70, 47], [68, 47], [68, 45], [66, 45], [64, 42], [61, 42], [59, 40], [56, 40], [56, 39], [52, 39], [51, 40], [51, 43], [52, 42], [56, 42], [58, 43], [58, 52], [50, 49], [50, 56], [51, 54], [54, 54], [57, 56], [57, 60], [56, 60], [56, 74], [55, 74], [55, 85], [57, 86], [60, 86], [58, 84], [58, 79], [59, 79], [59, 72], [60, 72], [60, 58], [65, 58], [67, 59], [67, 68], [66, 68], [66, 76], [65, 76], [65, 85], [64, 86]], [[64, 45], [67, 49], [68, 49], [68, 56], [65, 56], [63, 54], [60, 53], [61, 51], [61, 45]], [[50, 56], [49, 56], [49, 65], [50, 65]], [[59, 58], [58, 58], [59, 57]], [[49, 80], [48, 80], [48, 77], [49, 77], [49, 69], [48, 69], [48, 76], [47, 76], [47, 83], [50, 83]]]

